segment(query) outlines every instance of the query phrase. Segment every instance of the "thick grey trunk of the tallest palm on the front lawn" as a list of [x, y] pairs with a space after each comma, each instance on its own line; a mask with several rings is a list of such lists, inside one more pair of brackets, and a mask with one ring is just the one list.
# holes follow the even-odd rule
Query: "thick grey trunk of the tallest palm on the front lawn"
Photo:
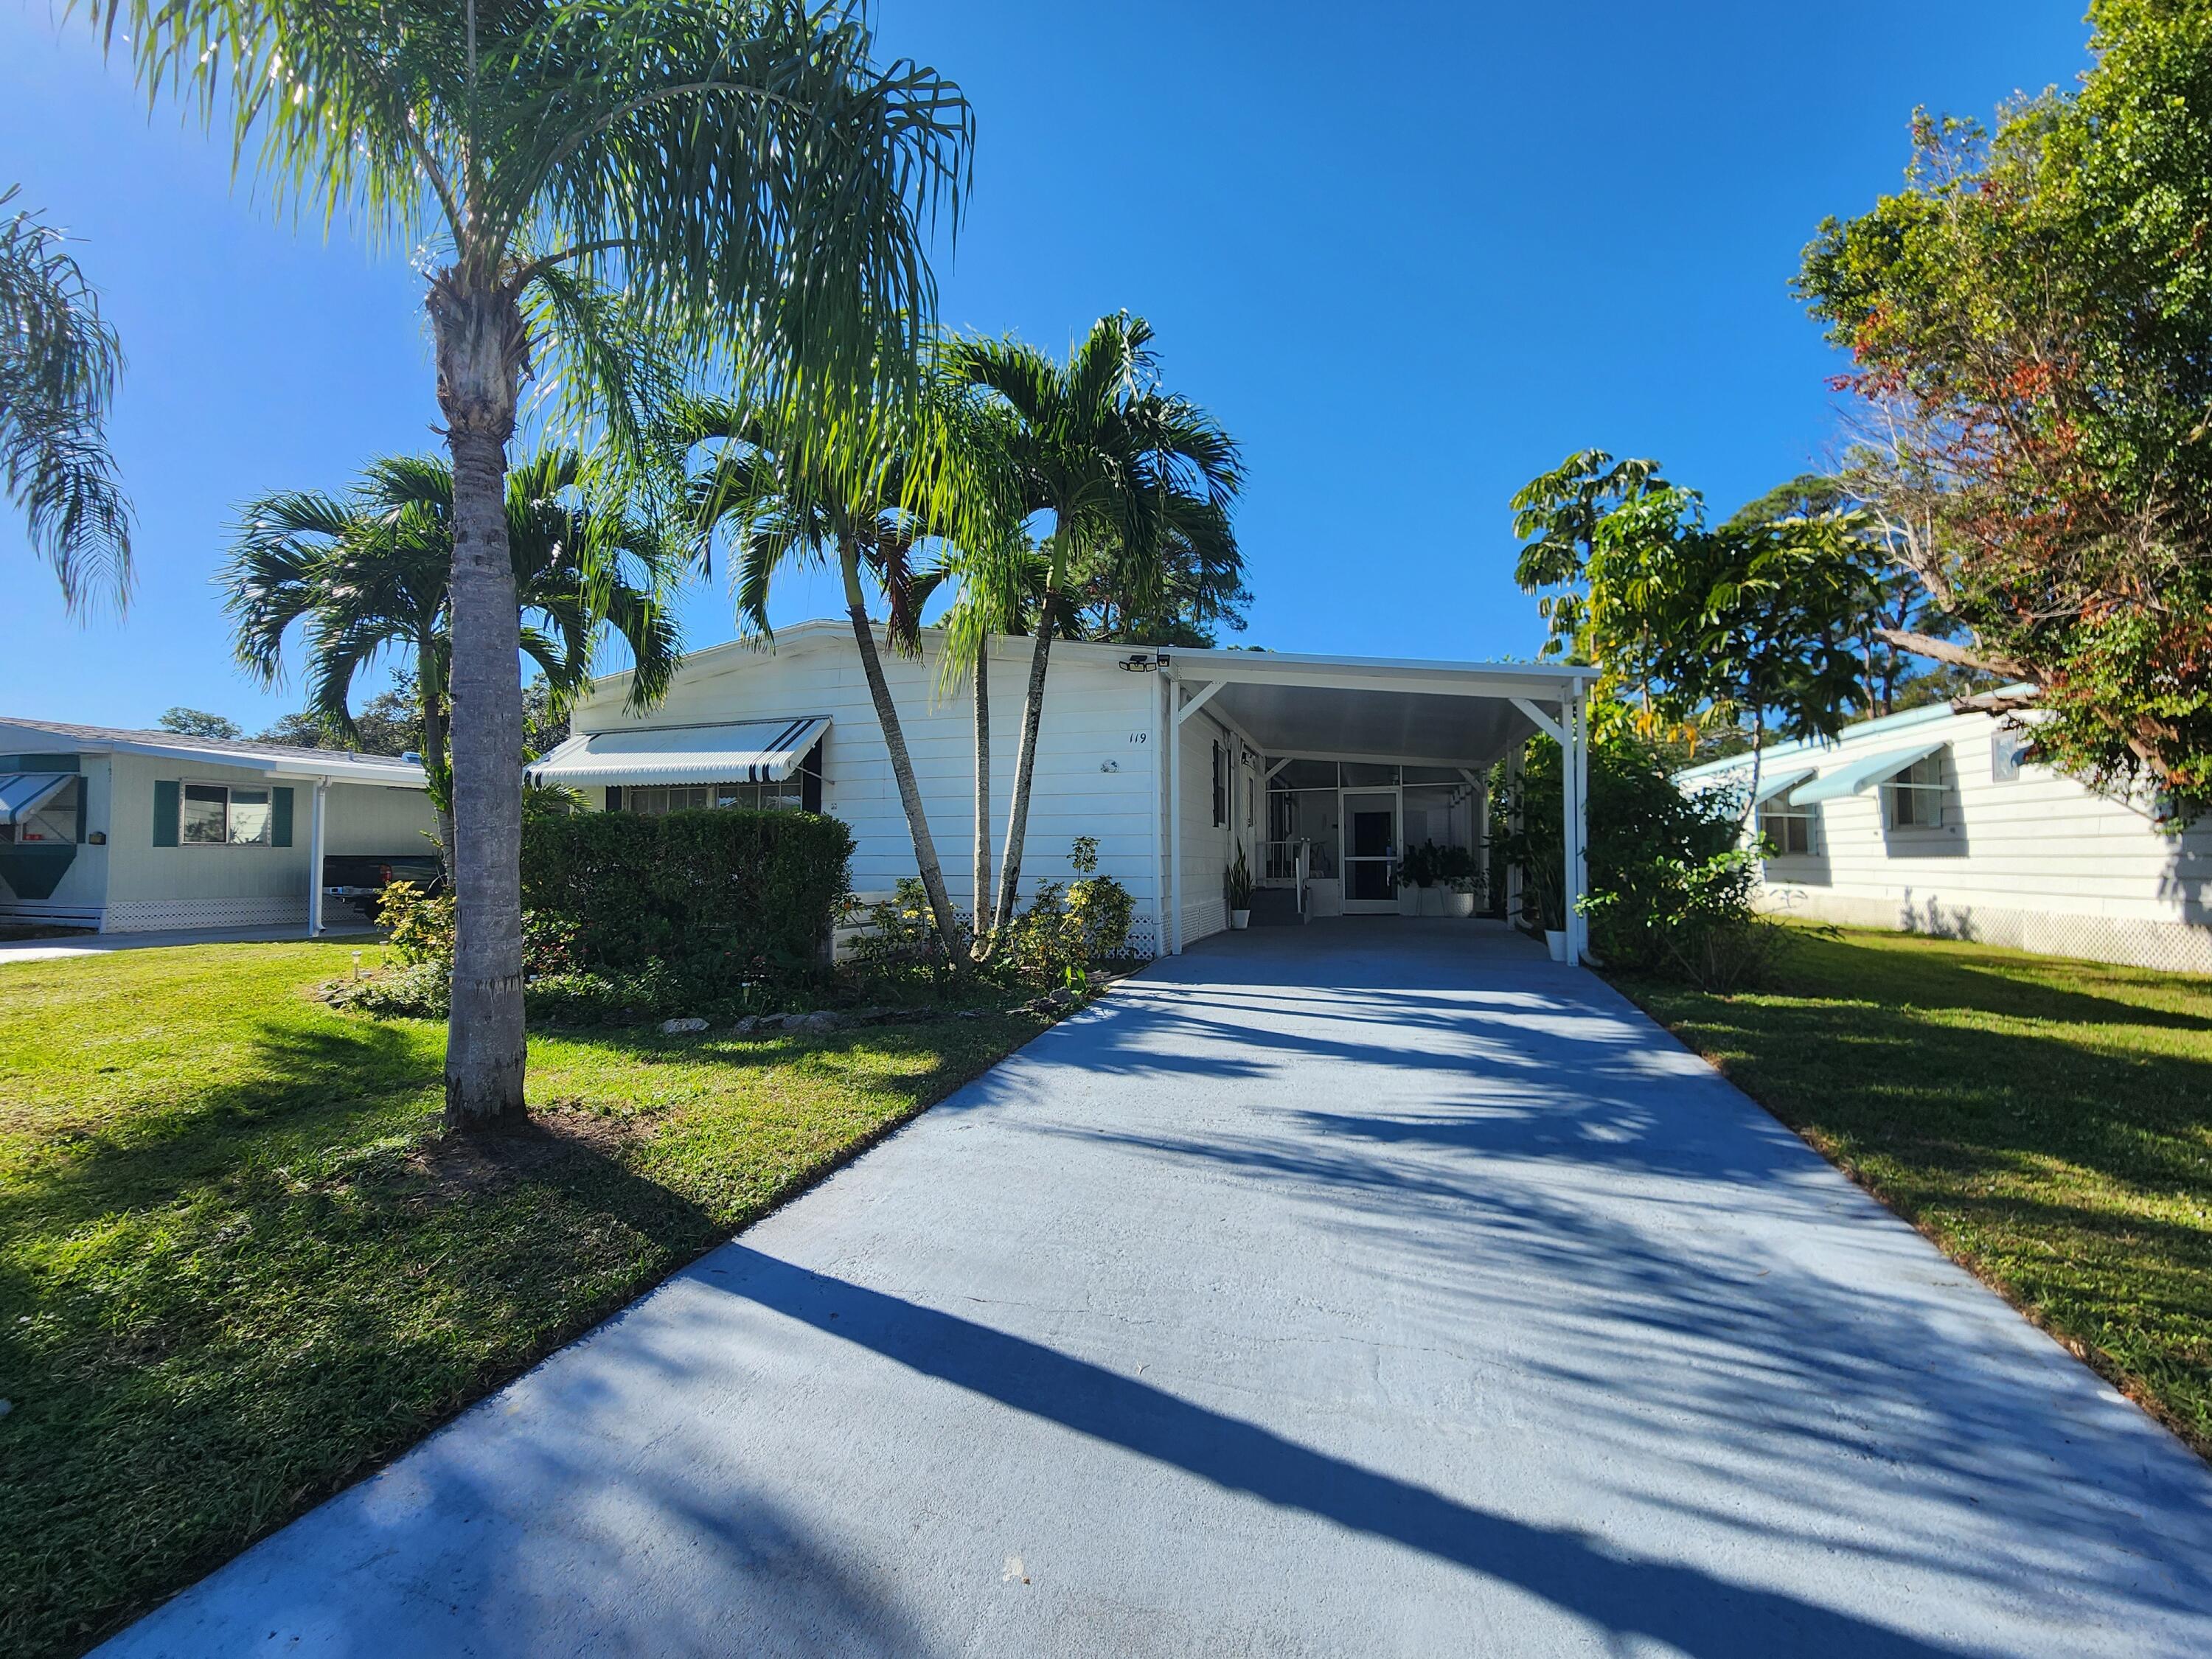
[[524, 363], [504, 290], [431, 285], [438, 403], [453, 451], [453, 1011], [447, 1128], [520, 1117], [522, 1035], [522, 626], [507, 546], [507, 438]]

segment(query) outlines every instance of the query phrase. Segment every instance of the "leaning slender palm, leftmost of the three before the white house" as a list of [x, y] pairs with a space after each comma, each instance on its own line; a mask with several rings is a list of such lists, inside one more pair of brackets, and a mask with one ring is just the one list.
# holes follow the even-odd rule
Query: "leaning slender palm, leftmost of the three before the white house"
[[967, 960], [967, 940], [945, 889], [945, 867], [929, 834], [898, 706], [883, 677], [863, 584], [863, 573], [874, 577], [885, 597], [885, 635], [891, 648], [920, 653], [914, 549], [927, 535], [927, 520], [916, 504], [927, 493], [918, 478], [927, 462], [918, 456], [927, 453], [922, 445], [931, 429], [933, 422], [878, 411], [876, 418], [854, 420], [830, 434], [818, 425], [783, 418], [776, 407], [697, 400], [679, 416], [675, 436], [686, 449], [714, 445], [712, 465], [692, 484], [695, 524], [701, 544], [714, 531], [730, 538], [737, 608], [750, 628], [770, 635], [768, 595], [779, 571], [803, 562], [836, 562], [860, 672], [867, 677], [898, 801], [907, 812], [914, 863], [945, 960], [958, 971]]

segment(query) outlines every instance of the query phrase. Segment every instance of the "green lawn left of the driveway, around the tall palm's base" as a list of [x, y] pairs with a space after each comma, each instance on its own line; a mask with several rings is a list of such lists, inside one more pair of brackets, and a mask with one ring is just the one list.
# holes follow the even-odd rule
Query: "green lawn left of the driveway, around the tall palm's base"
[[442, 1029], [310, 998], [349, 967], [0, 964], [0, 1652], [91, 1646], [1040, 1026], [535, 1037], [533, 1128], [471, 1146]]

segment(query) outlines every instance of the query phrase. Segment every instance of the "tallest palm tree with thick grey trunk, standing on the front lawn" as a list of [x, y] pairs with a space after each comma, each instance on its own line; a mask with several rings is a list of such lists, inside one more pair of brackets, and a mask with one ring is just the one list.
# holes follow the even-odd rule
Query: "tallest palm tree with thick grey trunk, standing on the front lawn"
[[526, 374], [622, 447], [686, 361], [858, 396], [929, 332], [971, 117], [805, 0], [86, 0], [279, 201], [425, 248], [453, 456], [453, 1128], [522, 1110], [522, 675], [507, 440]]

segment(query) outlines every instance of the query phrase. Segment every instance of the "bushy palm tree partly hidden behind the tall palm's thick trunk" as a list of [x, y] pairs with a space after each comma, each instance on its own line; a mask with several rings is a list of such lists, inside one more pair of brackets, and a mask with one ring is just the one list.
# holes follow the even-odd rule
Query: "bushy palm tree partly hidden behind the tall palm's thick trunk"
[[[553, 699], [591, 677], [613, 628], [637, 670], [630, 703], [668, 690], [679, 639], [661, 593], [681, 571], [650, 518], [593, 498], [571, 449], [546, 449], [507, 473], [507, 553], [520, 644]], [[438, 807], [438, 852], [453, 869], [449, 668], [453, 653], [453, 469], [442, 460], [376, 460], [347, 495], [292, 491], [246, 507], [223, 571], [237, 655], [263, 686], [283, 679], [283, 644], [305, 635], [307, 712], [347, 741], [354, 679], [387, 650], [411, 659], [422, 714], [422, 770]]]

